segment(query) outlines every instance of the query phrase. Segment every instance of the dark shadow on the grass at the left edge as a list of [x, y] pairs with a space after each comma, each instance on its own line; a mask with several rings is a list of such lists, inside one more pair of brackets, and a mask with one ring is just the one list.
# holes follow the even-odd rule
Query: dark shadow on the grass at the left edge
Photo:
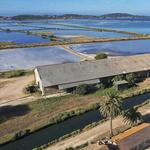
[[0, 108], [0, 123], [3, 123], [16, 116], [23, 116], [30, 112], [28, 105], [4, 106]]

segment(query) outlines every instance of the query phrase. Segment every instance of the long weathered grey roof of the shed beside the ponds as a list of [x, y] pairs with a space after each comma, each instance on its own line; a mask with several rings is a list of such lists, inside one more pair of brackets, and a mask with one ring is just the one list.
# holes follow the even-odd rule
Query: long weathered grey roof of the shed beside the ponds
[[43, 87], [150, 70], [150, 54], [37, 67]]

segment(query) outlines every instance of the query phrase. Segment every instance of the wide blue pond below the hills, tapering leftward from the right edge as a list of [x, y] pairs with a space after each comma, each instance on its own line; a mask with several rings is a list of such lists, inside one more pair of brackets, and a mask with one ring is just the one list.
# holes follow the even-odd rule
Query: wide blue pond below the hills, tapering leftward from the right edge
[[97, 28], [112, 28], [131, 32], [150, 34], [150, 21], [124, 21], [124, 20], [93, 20], [93, 19], [69, 19], [50, 20], [49, 22], [62, 23], [68, 25], [80, 25]]

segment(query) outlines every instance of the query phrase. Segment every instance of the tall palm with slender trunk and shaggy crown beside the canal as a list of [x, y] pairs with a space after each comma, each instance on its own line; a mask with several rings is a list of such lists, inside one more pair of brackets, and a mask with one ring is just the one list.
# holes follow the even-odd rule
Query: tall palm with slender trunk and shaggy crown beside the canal
[[106, 99], [100, 103], [100, 112], [104, 117], [110, 120], [110, 136], [113, 136], [112, 119], [122, 112], [122, 105], [118, 92], [115, 89], [107, 90], [104, 95]]

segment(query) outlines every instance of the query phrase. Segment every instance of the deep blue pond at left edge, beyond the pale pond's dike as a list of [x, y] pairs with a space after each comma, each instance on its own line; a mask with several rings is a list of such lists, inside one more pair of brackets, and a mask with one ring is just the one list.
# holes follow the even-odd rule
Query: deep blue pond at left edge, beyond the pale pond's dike
[[38, 36], [27, 35], [19, 32], [0, 32], [0, 42], [16, 42], [16, 43], [41, 43], [49, 42], [48, 39], [43, 39]]

